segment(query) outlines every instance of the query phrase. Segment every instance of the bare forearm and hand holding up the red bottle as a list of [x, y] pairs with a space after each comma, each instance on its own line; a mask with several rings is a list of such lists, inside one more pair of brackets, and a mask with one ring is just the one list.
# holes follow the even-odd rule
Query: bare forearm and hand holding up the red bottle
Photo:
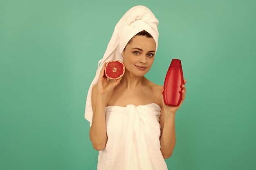
[[[186, 80], [184, 80], [186, 83]], [[173, 150], [176, 144], [176, 134], [175, 134], [175, 114], [176, 111], [180, 108], [184, 99], [186, 97], [186, 87], [182, 85], [182, 101], [180, 105], [177, 107], [174, 106], [166, 106], [164, 104], [164, 99], [162, 97], [163, 109], [161, 110], [160, 116], [160, 125], [161, 125], [161, 137], [160, 137], [160, 145], [161, 152], [164, 159], [171, 157], [173, 154]]]

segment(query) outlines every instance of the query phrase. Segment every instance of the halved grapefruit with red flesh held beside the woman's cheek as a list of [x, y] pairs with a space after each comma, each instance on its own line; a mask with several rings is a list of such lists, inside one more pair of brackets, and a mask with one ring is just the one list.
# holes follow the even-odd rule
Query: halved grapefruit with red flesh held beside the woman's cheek
[[124, 63], [119, 60], [111, 60], [105, 66], [105, 75], [109, 79], [119, 79], [123, 77], [125, 71]]

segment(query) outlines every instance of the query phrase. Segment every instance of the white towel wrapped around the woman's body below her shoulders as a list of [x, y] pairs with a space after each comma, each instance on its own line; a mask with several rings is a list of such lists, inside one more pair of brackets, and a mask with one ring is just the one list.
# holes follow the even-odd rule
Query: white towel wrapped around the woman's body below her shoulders
[[167, 170], [160, 150], [160, 106], [106, 107], [108, 142], [98, 170]]

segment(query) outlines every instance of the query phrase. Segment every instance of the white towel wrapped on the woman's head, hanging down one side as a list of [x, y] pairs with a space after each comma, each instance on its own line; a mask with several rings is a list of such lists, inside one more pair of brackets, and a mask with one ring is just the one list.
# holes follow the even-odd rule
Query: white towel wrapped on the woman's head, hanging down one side
[[132, 7], [130, 10], [128, 10], [115, 26], [106, 52], [103, 55], [103, 58], [99, 60], [96, 75], [92, 80], [92, 83], [88, 90], [85, 104], [85, 119], [90, 121], [90, 126], [92, 125], [92, 87], [98, 82], [99, 73], [104, 62], [108, 62], [110, 60], [123, 61], [121, 53], [123, 52], [126, 44], [134, 35], [143, 30], [147, 31], [148, 33], [150, 33], [150, 35], [152, 35], [155, 40], [157, 49], [158, 23], [159, 22], [157, 18], [155, 18], [155, 15], [150, 11], [150, 9], [139, 5]]

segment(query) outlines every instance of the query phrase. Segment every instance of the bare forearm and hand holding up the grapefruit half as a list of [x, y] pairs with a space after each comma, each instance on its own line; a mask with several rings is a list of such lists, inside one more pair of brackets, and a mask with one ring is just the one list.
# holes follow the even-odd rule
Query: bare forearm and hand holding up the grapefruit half
[[92, 88], [92, 126], [90, 128], [90, 139], [92, 146], [96, 150], [103, 150], [106, 147], [108, 141], [106, 131], [106, 117], [105, 117], [105, 106], [107, 97], [112, 89], [119, 84], [121, 79], [116, 81], [108, 82], [104, 76], [104, 68], [106, 63], [103, 65], [98, 83]]

